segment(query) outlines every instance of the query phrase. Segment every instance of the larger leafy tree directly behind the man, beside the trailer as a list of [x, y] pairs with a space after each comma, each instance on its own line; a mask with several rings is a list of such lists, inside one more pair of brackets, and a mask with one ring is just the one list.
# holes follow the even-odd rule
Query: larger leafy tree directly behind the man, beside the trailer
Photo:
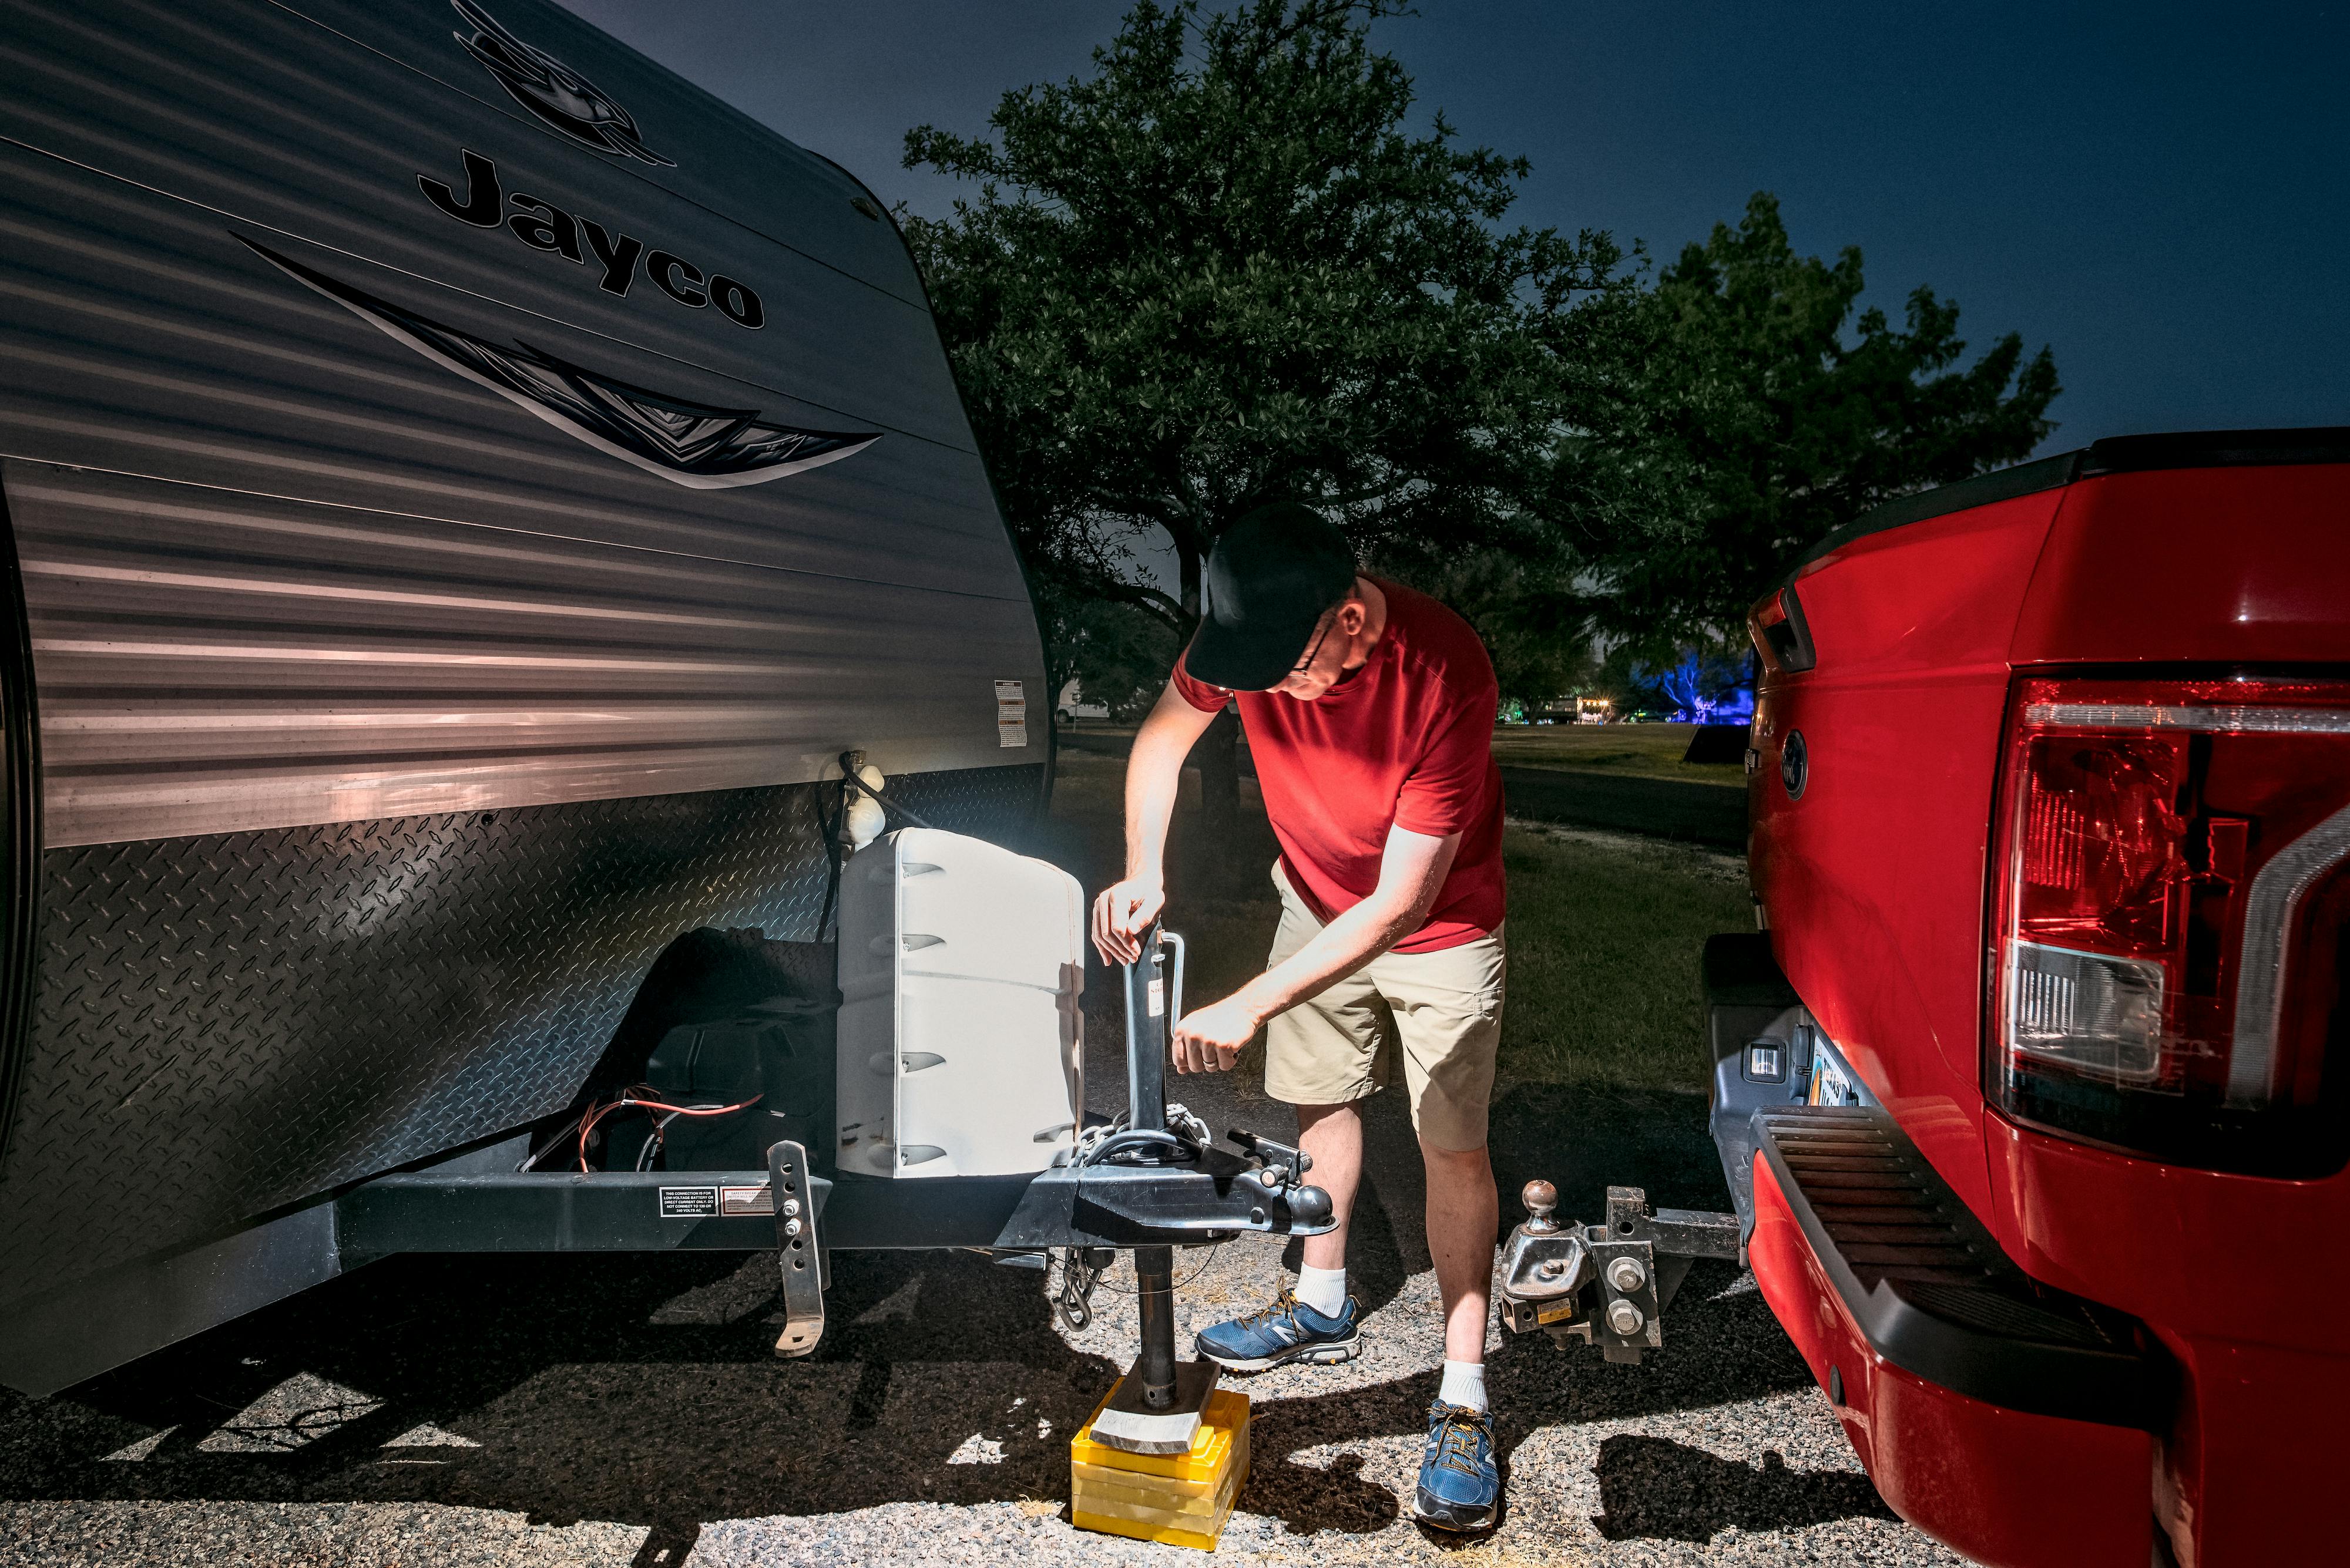
[[[907, 134], [973, 181], [907, 218], [996, 491], [1053, 592], [1177, 638], [1253, 505], [1361, 549], [1546, 540], [1577, 369], [1629, 303], [1605, 235], [1499, 228], [1525, 160], [1462, 148], [1368, 42], [1389, 0], [1142, 0], [1090, 77], [1006, 94], [994, 141]], [[1173, 592], [1135, 570], [1163, 538]], [[1201, 753], [1231, 810], [1231, 742]], [[1217, 824], [1208, 824], [1215, 831]]]

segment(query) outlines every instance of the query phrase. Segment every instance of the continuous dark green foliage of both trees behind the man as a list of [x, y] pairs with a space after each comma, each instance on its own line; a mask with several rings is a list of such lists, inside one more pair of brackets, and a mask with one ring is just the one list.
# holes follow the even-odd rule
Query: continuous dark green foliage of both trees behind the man
[[1859, 310], [1859, 249], [1798, 256], [1767, 192], [1654, 279], [1509, 228], [1525, 160], [1419, 115], [1368, 38], [1394, 9], [1140, 0], [987, 136], [907, 134], [968, 185], [905, 230], [1055, 669], [1109, 695], [1173, 657], [1208, 549], [1276, 495], [1469, 615], [1511, 697], [1593, 646], [1678, 669], [1814, 540], [2052, 430], [2049, 350], [1969, 361], [1932, 289]]

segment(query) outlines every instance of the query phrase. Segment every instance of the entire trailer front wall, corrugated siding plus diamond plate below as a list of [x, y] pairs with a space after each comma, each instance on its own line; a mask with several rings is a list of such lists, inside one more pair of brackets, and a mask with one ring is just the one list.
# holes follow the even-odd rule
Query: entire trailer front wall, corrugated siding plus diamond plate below
[[545, 0], [14, 0], [0, 183], [0, 1303], [562, 1108], [679, 932], [818, 934], [841, 749], [1034, 812], [1034, 608], [837, 167]]

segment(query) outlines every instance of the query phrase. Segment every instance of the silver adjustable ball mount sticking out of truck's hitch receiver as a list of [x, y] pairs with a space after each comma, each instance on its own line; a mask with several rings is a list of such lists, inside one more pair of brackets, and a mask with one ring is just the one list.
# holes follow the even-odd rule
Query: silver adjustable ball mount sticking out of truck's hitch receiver
[[1525, 1183], [1532, 1216], [1502, 1246], [1502, 1326], [1598, 1345], [1610, 1361], [1664, 1347], [1664, 1310], [1694, 1258], [1737, 1258], [1739, 1216], [1654, 1209], [1640, 1188], [1607, 1188], [1603, 1225], [1560, 1223], [1558, 1188]]

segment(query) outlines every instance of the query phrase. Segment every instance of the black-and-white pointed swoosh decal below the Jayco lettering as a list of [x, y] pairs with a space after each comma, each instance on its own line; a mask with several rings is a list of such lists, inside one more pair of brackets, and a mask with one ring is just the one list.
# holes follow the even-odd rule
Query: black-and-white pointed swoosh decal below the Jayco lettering
[[526, 343], [501, 347], [378, 300], [289, 256], [237, 239], [287, 277], [324, 293], [388, 338], [456, 371], [602, 453], [696, 491], [766, 484], [839, 462], [881, 439], [879, 430], [801, 430], [766, 425], [757, 408], [714, 408], [667, 392], [599, 376]]

